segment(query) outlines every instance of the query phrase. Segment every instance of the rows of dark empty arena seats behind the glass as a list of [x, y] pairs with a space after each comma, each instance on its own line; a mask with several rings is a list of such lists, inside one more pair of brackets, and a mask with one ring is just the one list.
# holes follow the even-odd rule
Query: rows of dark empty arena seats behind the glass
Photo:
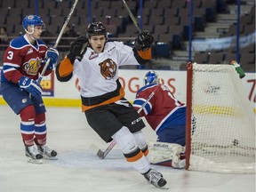
[[[58, 36], [64, 20], [73, 4], [73, 0], [38, 0], [38, 14], [43, 18], [52, 36]], [[142, 28], [153, 34], [156, 40], [155, 57], [172, 58], [172, 51], [184, 50], [188, 41], [189, 1], [186, 0], [144, 0], [142, 10]], [[108, 28], [109, 37], [130, 37], [124, 43], [131, 43], [131, 37], [138, 35], [129, 13], [119, 0], [92, 0], [89, 17], [88, 0], [80, 0], [69, 24], [78, 34], [84, 34], [85, 26], [91, 21], [102, 21]], [[132, 13], [140, 21], [140, 1], [126, 0]], [[214, 22], [219, 12], [226, 11], [227, 4], [234, 0], [193, 0], [193, 34], [204, 31], [209, 22]], [[34, 14], [35, 0], [0, 0], [0, 25], [8, 28], [9, 36], [24, 34], [21, 20], [25, 15]], [[255, 4], [252, 11], [240, 18], [240, 36], [249, 36], [255, 32]], [[236, 36], [236, 24], [231, 25], [227, 33], [220, 37]], [[220, 52], [221, 51], [221, 52]], [[194, 60], [202, 63], [225, 63], [234, 58], [234, 47], [218, 52], [198, 52]], [[241, 62], [255, 62], [255, 44], [241, 48]], [[245, 67], [244, 67], [245, 68]], [[255, 71], [252, 65], [248, 69]]]

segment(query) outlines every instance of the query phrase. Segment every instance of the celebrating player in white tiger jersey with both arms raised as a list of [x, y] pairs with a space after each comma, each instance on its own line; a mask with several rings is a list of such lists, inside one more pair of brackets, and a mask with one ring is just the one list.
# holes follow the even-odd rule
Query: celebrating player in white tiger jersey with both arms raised
[[151, 59], [154, 37], [143, 31], [134, 48], [121, 42], [108, 42], [101, 22], [88, 25], [86, 36], [79, 36], [70, 45], [68, 55], [56, 68], [60, 82], [76, 75], [81, 87], [82, 110], [88, 124], [102, 140], [116, 140], [127, 162], [149, 183], [166, 188], [163, 175], [151, 169], [148, 146], [141, 129], [145, 124], [132, 104], [124, 98], [118, 68], [145, 64]]

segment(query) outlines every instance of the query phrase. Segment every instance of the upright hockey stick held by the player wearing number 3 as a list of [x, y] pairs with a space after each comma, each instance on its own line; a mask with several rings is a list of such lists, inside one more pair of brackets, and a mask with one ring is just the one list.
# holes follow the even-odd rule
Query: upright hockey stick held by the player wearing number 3
[[[61, 30], [60, 30], [60, 34], [59, 34], [59, 36], [57, 37], [57, 40], [56, 40], [55, 44], [53, 45], [53, 48], [56, 48], [56, 47], [58, 46], [58, 44], [59, 44], [59, 42], [60, 42], [60, 38], [61, 38], [61, 36], [63, 35], [64, 30], [65, 30], [65, 28], [66, 28], [67, 25], [68, 25], [68, 21], [70, 20], [72, 13], [75, 11], [76, 4], [77, 4], [77, 3], [78, 3], [78, 0], [75, 0], [74, 4], [72, 5], [71, 10], [70, 10], [70, 12], [69, 12], [69, 14], [68, 14], [68, 17], [67, 17], [67, 19], [65, 20], [65, 22], [64, 22], [64, 24], [63, 24], [63, 26], [62, 26], [62, 28], [61, 28]], [[48, 58], [48, 60], [46, 61], [45, 65], [44, 65], [44, 68], [43, 68], [43, 70], [42, 70], [42, 72], [41, 72], [41, 74], [40, 74], [40, 76], [39, 76], [39, 78], [38, 78], [38, 83], [40, 83], [40, 82], [42, 81], [43, 76], [44, 76], [44, 73], [45, 73], [45, 71], [46, 71], [46, 69], [47, 69], [47, 67], [48, 67], [48, 65], [49, 65], [49, 63], [50, 63], [50, 61], [51, 61], [51, 59]]]

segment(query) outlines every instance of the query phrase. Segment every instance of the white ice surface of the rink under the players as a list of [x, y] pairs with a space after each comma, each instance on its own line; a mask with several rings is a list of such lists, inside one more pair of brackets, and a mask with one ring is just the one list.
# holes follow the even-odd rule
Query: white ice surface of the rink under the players
[[[0, 192], [150, 192], [149, 185], [115, 147], [99, 159], [92, 143], [108, 147], [87, 124], [80, 108], [47, 108], [48, 145], [59, 159], [30, 164], [24, 155], [20, 117], [0, 106]], [[148, 139], [156, 139], [149, 128]], [[218, 174], [154, 166], [173, 192], [255, 192], [254, 174]]]

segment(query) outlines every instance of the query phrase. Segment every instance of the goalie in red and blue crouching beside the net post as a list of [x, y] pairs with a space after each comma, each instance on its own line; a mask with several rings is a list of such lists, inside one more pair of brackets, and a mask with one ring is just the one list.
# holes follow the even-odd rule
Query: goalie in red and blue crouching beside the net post
[[151, 164], [183, 168], [185, 166], [186, 105], [169, 88], [160, 84], [156, 71], [148, 71], [144, 86], [136, 93], [133, 107], [140, 110], [156, 132], [157, 141], [149, 141]]

